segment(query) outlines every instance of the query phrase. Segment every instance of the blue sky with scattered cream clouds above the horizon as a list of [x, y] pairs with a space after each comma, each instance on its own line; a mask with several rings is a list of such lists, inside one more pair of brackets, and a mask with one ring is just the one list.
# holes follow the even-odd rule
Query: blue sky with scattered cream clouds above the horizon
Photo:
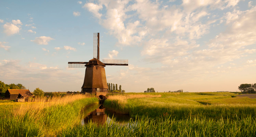
[[236, 92], [256, 83], [254, 0], [0, 1], [0, 81], [33, 91], [81, 91], [85, 68], [100, 60], [108, 83], [126, 92]]

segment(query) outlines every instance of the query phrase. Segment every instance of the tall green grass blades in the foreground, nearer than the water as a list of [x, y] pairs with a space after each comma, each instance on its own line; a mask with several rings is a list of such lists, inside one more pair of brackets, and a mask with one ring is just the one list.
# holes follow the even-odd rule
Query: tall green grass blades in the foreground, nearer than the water
[[205, 118], [176, 120], [160, 117], [147, 117], [130, 121], [129, 126], [119, 125], [114, 121], [98, 126], [95, 123], [78, 125], [58, 134], [60, 137], [252, 137], [256, 136], [256, 121], [248, 117], [236, 120], [220, 119], [218, 121]]

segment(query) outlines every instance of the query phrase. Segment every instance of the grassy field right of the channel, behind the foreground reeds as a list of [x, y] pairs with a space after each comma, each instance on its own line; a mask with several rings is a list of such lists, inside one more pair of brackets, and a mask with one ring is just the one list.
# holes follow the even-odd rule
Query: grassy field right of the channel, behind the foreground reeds
[[247, 102], [248, 98], [243, 99], [234, 97], [234, 95], [236, 93], [229, 92], [130, 93], [126, 96], [109, 96], [104, 105], [108, 110], [129, 114], [133, 118], [136, 115], [146, 115], [151, 118], [160, 116], [176, 118], [176, 120], [190, 117], [219, 120], [221, 118], [247, 118], [256, 115], [256, 100], [249, 99], [251, 102]]

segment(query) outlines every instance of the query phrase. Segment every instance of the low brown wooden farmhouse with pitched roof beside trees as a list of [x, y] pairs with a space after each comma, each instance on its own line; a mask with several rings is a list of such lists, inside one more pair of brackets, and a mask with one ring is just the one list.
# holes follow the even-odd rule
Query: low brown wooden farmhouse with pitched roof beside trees
[[21, 97], [30, 97], [33, 94], [29, 90], [11, 90], [8, 89], [5, 92], [5, 98], [16, 99]]

